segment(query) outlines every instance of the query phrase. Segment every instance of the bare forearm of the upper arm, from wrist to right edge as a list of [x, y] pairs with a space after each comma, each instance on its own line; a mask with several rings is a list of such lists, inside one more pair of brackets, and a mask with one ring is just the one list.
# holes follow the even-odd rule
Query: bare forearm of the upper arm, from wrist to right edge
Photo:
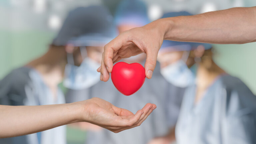
[[194, 16], [159, 19], [164, 39], [242, 44], [256, 41], [256, 7], [231, 8]]

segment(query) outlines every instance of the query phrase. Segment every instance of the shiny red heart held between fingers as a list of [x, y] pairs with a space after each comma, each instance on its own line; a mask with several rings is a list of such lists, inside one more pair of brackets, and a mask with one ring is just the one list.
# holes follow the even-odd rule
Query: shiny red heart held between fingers
[[113, 66], [111, 80], [118, 91], [129, 96], [138, 91], [145, 81], [145, 69], [139, 63], [118, 62]]

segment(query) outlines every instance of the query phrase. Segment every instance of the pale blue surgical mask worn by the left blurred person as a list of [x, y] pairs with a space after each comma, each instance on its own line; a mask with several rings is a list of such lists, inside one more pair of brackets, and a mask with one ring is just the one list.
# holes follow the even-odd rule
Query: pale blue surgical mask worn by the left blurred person
[[[80, 48], [82, 57], [85, 48]], [[86, 54], [87, 55], [87, 54]], [[73, 54], [68, 54], [68, 64], [65, 67], [65, 78], [63, 85], [70, 89], [84, 89], [95, 85], [100, 79], [97, 68], [100, 64], [88, 57], [84, 58], [80, 66], [75, 66]]]

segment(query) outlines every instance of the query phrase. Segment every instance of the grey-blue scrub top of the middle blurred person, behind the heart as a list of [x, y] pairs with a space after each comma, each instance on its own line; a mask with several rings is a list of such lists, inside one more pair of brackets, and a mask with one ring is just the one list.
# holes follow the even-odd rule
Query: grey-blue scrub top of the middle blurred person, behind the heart
[[174, 127], [184, 90], [172, 86], [162, 77], [158, 63], [152, 79], [146, 79], [143, 86], [133, 95], [121, 94], [109, 80], [100, 81], [89, 89], [69, 90], [66, 98], [67, 102], [74, 102], [99, 97], [133, 113], [147, 103], [156, 104], [157, 108], [138, 127], [119, 133], [106, 129], [99, 132], [88, 131], [86, 135], [86, 144], [147, 144], [154, 137], [166, 135], [169, 128]]

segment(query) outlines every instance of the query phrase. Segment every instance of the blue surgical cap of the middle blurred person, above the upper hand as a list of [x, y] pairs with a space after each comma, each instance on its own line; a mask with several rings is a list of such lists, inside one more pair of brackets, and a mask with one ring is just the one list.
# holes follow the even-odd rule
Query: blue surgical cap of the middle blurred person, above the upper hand
[[116, 25], [144, 26], [150, 23], [147, 6], [140, 0], [123, 0], [116, 9], [114, 21]]

